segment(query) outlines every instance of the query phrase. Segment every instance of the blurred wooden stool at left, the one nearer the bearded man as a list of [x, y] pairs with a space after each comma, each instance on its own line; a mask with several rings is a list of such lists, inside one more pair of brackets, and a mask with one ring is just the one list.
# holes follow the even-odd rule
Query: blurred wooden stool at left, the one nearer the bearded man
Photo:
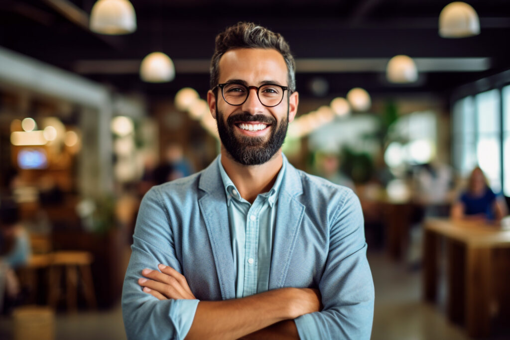
[[60, 297], [60, 278], [65, 269], [66, 302], [69, 311], [77, 310], [78, 271], [82, 279], [83, 293], [89, 308], [96, 308], [94, 282], [90, 264], [92, 254], [87, 251], [57, 251], [52, 253], [49, 272], [48, 303], [56, 308]]

